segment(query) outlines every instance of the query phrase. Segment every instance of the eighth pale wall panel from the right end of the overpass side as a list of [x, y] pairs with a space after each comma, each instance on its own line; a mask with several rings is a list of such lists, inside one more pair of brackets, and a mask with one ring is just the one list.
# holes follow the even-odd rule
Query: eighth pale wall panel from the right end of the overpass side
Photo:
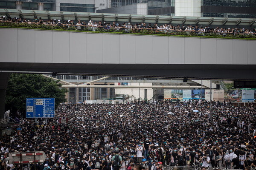
[[136, 36], [136, 64], [152, 64], [152, 36]]

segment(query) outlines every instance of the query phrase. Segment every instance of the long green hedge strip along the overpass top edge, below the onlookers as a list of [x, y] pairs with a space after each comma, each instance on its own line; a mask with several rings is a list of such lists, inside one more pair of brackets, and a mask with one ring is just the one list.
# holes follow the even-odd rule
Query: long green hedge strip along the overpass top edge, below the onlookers
[[[49, 26], [49, 25], [37, 25], [37, 24], [26, 24], [26, 23], [0, 23], [0, 28], [27, 28], [27, 29], [44, 29], [44, 30], [58, 30], [58, 31], [79, 31], [75, 27], [64, 28], [62, 26]], [[226, 38], [226, 39], [246, 39], [246, 40], [256, 40], [255, 35], [233, 35], [227, 34], [226, 36], [214, 34], [214, 33], [205, 33], [205, 34], [195, 34], [187, 32], [164, 32], [164, 31], [154, 31], [154, 30], [131, 30], [125, 32], [125, 30], [118, 31], [116, 29], [104, 29], [96, 28], [95, 31], [92, 28], [82, 28], [79, 32], [96, 32], [96, 33], [117, 33], [117, 34], [150, 34], [150, 35], [161, 35], [161, 36], [175, 36], [175, 37], [206, 37], [206, 38]]]

